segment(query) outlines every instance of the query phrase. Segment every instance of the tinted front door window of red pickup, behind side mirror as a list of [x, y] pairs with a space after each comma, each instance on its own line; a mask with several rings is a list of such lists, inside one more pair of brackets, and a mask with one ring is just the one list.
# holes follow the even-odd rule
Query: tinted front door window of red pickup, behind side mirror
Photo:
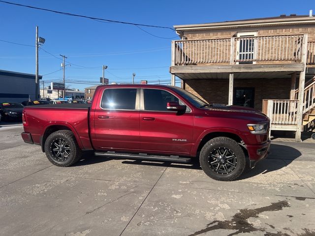
[[168, 102], [180, 102], [173, 94], [159, 89], [144, 89], [144, 109], [147, 111], [167, 111]]

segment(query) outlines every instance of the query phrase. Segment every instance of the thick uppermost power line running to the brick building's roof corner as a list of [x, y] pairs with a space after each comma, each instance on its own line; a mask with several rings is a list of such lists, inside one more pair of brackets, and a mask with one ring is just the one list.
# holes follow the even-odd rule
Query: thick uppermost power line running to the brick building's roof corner
[[171, 29], [172, 31], [174, 31], [174, 29], [170, 28], [170, 27], [155, 26], [155, 25], [145, 25], [145, 24], [135, 24], [135, 23], [124, 22], [124, 21], [114, 21], [114, 20], [102, 19], [102, 18], [97, 18], [97, 17], [72, 14], [72, 13], [68, 13], [68, 12], [55, 11], [55, 10], [50, 10], [50, 9], [40, 8], [40, 7], [35, 7], [35, 6], [23, 5], [23, 4], [18, 4], [18, 3], [9, 2], [9, 1], [2, 1], [2, 0], [0, 0], [0, 2], [11, 4], [11, 5], [24, 6], [24, 7], [37, 9], [37, 10], [42, 10], [42, 11], [54, 12], [54, 13], [63, 14], [63, 15], [67, 15], [67, 16], [76, 16], [76, 17], [88, 18], [88, 19], [92, 19], [92, 20], [107, 21], [107, 22], [120, 23], [120, 24], [133, 25], [133, 26], [144, 26], [144, 27], [152, 27], [152, 28]]

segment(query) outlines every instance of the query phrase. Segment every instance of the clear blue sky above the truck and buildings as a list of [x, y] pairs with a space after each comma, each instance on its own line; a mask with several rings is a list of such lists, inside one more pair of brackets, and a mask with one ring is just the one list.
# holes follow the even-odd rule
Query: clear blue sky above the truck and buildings
[[[73, 14], [137, 24], [173, 25], [221, 22], [280, 14], [308, 15], [315, 12], [314, 0], [195, 0], [195, 1], [105, 1], [105, 0], [7, 0]], [[66, 16], [0, 2], [0, 40], [34, 45], [35, 27], [46, 39], [39, 51], [39, 74], [44, 81], [63, 78], [60, 54], [68, 57], [66, 86], [84, 89], [97, 84], [102, 65], [110, 82], [131, 83], [148, 80], [170, 82], [171, 40], [179, 39], [171, 29], [141, 27]], [[160, 38], [163, 37], [163, 38]], [[86, 68], [89, 67], [89, 68]], [[95, 68], [96, 67], [96, 68]], [[0, 41], [0, 69], [35, 73], [35, 48]], [[57, 71], [55, 73], [51, 73]], [[51, 73], [49, 75], [45, 75]], [[72, 82], [72, 83], [71, 83]], [[73, 82], [80, 83], [74, 84]], [[87, 83], [89, 82], [89, 83]], [[85, 84], [81, 84], [85, 83]], [[47, 86], [45, 84], [45, 86]]]

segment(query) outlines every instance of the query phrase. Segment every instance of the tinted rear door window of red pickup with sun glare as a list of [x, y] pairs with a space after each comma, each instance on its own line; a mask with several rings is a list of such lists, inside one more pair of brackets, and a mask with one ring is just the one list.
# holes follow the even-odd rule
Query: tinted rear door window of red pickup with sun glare
[[112, 110], [134, 110], [137, 89], [105, 89], [101, 108]]

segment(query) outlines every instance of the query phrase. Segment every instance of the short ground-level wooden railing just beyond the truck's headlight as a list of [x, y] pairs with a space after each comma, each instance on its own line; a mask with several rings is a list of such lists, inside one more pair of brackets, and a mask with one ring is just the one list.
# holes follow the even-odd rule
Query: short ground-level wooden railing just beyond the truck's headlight
[[298, 100], [263, 100], [262, 111], [271, 124], [296, 125]]

